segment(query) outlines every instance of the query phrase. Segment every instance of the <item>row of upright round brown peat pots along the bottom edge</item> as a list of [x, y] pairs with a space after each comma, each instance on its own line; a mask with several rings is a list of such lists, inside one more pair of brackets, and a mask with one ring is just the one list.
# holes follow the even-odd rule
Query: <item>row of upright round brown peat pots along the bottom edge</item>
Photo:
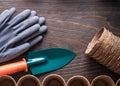
[[81, 75], [70, 77], [67, 81], [58, 75], [47, 75], [41, 82], [39, 78], [33, 75], [24, 75], [17, 82], [9, 75], [0, 76], [0, 86], [120, 86], [120, 79], [115, 82], [107, 75], [95, 77], [91, 83]]

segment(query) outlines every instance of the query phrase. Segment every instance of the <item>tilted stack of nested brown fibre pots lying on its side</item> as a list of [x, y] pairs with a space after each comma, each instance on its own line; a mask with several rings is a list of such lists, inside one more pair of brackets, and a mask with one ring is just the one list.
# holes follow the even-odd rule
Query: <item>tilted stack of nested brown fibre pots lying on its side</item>
[[88, 44], [85, 54], [120, 74], [120, 38], [102, 28]]

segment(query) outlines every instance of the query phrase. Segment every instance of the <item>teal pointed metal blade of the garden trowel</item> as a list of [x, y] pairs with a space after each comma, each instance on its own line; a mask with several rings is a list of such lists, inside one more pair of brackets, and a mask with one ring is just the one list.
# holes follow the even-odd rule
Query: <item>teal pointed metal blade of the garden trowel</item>
[[28, 65], [33, 75], [57, 70], [67, 65], [76, 56], [73, 51], [63, 48], [50, 48], [29, 53], [27, 62], [31, 59], [45, 59], [43, 62]]

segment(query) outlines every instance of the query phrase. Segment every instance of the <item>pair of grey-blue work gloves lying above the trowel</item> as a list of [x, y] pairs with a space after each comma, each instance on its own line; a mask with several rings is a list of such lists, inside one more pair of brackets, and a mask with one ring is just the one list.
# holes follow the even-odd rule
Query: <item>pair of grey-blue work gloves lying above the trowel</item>
[[0, 14], [0, 63], [16, 58], [42, 40], [47, 31], [45, 18], [26, 9], [15, 14], [10, 8]]

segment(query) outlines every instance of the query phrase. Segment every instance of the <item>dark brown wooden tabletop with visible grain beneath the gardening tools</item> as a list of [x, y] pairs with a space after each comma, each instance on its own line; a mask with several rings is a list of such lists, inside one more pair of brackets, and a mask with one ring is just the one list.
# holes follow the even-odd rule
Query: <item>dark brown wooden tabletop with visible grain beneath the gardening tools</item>
[[[38, 75], [39, 79], [52, 73], [60, 74], [66, 81], [74, 75], [83, 75], [90, 82], [102, 74], [111, 76], [115, 82], [120, 77], [84, 54], [88, 43], [101, 27], [107, 26], [120, 36], [119, 0], [0, 0], [0, 12], [13, 6], [17, 12], [26, 8], [36, 10], [39, 16], [47, 19], [48, 32], [42, 42], [30, 51], [62, 47], [77, 53], [70, 64], [60, 70]], [[17, 81], [25, 74], [20, 72], [12, 76]]]

